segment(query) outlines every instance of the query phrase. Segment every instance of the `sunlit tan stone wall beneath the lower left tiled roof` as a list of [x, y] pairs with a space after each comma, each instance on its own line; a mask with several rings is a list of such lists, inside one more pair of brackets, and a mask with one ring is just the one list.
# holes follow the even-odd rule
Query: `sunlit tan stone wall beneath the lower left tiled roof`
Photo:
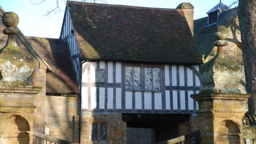
[[[78, 142], [78, 96], [46, 96], [45, 122], [49, 135]], [[74, 124], [76, 126], [74, 127]]]

